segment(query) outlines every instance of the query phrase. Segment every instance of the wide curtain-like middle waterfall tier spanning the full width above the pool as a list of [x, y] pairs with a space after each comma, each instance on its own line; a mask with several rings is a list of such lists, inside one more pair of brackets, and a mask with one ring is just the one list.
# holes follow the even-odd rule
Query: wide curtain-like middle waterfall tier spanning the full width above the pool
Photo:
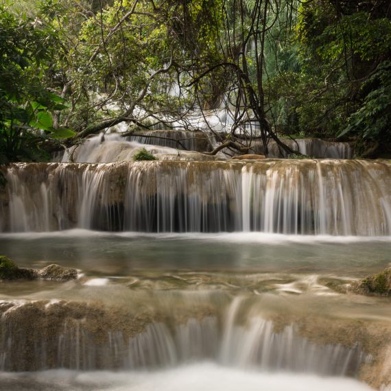
[[259, 231], [391, 235], [391, 165], [377, 161], [15, 164], [3, 231]]

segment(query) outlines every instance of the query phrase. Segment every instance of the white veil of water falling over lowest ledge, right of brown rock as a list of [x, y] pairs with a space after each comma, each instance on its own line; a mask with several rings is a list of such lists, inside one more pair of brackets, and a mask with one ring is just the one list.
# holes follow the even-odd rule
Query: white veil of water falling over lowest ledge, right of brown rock
[[213, 318], [191, 319], [174, 332], [164, 324], [148, 326], [130, 340], [132, 367], [167, 366], [206, 358], [227, 366], [346, 376], [355, 375], [364, 361], [358, 346], [314, 344], [299, 337], [294, 325], [276, 333], [272, 321], [250, 318], [245, 326], [226, 324], [231, 333], [220, 335], [216, 324]]

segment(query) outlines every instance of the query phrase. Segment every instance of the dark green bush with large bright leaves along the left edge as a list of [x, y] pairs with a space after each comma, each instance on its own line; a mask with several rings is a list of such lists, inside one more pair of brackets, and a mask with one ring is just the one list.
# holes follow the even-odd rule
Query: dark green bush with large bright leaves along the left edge
[[40, 21], [0, 6], [0, 164], [41, 160], [47, 137], [74, 134], [54, 127], [52, 112], [66, 106], [43, 85], [56, 45]]

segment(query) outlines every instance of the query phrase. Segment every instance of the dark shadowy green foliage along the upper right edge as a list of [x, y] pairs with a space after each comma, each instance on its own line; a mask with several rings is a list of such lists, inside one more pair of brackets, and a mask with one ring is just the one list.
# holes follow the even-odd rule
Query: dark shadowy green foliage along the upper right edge
[[289, 91], [274, 97], [288, 95], [288, 115], [297, 120], [289, 133], [349, 138], [361, 156], [376, 156], [381, 145], [391, 153], [388, 12], [383, 0], [301, 3], [291, 44], [300, 67], [273, 80]]

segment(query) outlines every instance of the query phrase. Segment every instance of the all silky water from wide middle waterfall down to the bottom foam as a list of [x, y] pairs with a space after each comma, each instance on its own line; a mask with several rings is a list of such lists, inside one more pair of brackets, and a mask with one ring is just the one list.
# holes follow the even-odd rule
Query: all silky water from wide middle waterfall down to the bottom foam
[[79, 277], [0, 284], [0, 389], [387, 390], [390, 167], [12, 165], [1, 254]]

